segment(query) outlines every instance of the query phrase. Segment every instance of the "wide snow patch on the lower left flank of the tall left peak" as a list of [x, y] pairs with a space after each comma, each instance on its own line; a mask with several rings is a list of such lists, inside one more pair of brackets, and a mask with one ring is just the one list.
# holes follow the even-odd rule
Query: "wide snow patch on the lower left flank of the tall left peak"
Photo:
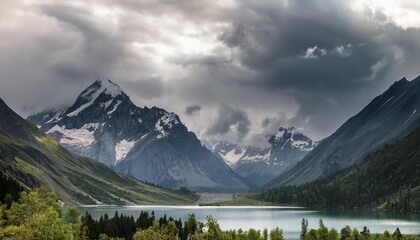
[[66, 126], [55, 125], [48, 134], [59, 133], [61, 134], [60, 143], [69, 145], [79, 145], [86, 147], [92, 145], [95, 142], [94, 133], [98, 128], [99, 123], [88, 123], [83, 125], [80, 129], [66, 129]]

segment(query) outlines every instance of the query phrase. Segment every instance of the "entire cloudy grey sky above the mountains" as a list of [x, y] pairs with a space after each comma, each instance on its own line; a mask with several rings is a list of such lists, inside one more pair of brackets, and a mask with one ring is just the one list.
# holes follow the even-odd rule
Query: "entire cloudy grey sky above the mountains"
[[420, 75], [419, 55], [418, 0], [0, 1], [0, 97], [18, 113], [111, 79], [201, 139], [322, 139]]

